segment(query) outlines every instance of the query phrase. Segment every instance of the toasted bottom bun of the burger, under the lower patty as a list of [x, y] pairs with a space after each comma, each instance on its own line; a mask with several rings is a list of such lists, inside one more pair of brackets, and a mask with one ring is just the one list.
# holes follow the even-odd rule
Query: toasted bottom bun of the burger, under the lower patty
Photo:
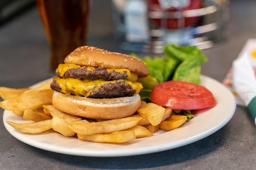
[[117, 119], [131, 116], [140, 107], [140, 95], [111, 99], [71, 96], [55, 91], [52, 105], [60, 111], [90, 119]]

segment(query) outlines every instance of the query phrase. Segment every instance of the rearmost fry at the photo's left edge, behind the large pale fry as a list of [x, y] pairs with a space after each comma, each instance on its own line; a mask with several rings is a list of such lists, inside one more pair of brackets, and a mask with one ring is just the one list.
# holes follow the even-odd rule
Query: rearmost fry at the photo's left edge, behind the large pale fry
[[0, 97], [3, 100], [11, 99], [15, 96], [19, 96], [24, 91], [29, 90], [29, 88], [7, 88], [7, 87], [0, 87]]

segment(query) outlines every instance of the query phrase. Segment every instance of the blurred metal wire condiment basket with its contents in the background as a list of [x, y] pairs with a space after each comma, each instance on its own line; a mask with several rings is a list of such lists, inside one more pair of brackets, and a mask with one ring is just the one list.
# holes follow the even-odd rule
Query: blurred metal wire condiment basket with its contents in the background
[[[195, 9], [173, 6], [161, 8], [163, 6], [160, 6], [160, 3], [152, 3], [157, 0], [139, 0], [140, 4], [136, 0], [134, 5], [130, 4], [131, 6], [128, 8], [128, 3], [131, 1], [112, 0], [114, 39], [122, 49], [162, 53], [166, 43], [195, 45], [200, 49], [205, 49], [212, 47], [215, 42], [229, 37], [228, 0], [198, 0], [201, 6]], [[171, 2], [173, 0], [162, 0], [162, 3], [163, 1]], [[183, 1], [193, 3], [193, 0]], [[137, 4], [135, 5], [135, 3]], [[152, 4], [159, 5], [160, 8], [158, 6], [158, 9], [154, 10]], [[132, 15], [132, 17], [128, 18], [128, 15]], [[175, 21], [177, 25], [169, 26], [169, 21]], [[189, 21], [193, 22], [190, 22], [190, 25], [186, 24]], [[130, 25], [128, 26], [128, 24]], [[137, 36], [130, 36], [131, 34], [137, 34]]]

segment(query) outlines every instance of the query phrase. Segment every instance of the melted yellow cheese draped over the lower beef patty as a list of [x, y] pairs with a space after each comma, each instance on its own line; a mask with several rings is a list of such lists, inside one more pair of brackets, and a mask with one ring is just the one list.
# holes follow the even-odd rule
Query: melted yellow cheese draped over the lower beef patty
[[115, 82], [121, 82], [124, 81], [127, 84], [131, 85], [131, 88], [135, 90], [135, 94], [138, 94], [141, 89], [143, 89], [143, 86], [140, 82], [131, 82], [128, 80], [114, 80], [114, 81], [104, 81], [104, 80], [79, 80], [79, 79], [73, 79], [73, 78], [67, 78], [67, 79], [61, 79], [59, 77], [55, 77], [54, 80], [58, 82], [58, 84], [61, 87], [61, 92], [64, 94], [74, 94], [76, 96], [90, 96], [95, 91], [97, 91], [101, 85], [107, 84], [107, 83], [115, 83]]

